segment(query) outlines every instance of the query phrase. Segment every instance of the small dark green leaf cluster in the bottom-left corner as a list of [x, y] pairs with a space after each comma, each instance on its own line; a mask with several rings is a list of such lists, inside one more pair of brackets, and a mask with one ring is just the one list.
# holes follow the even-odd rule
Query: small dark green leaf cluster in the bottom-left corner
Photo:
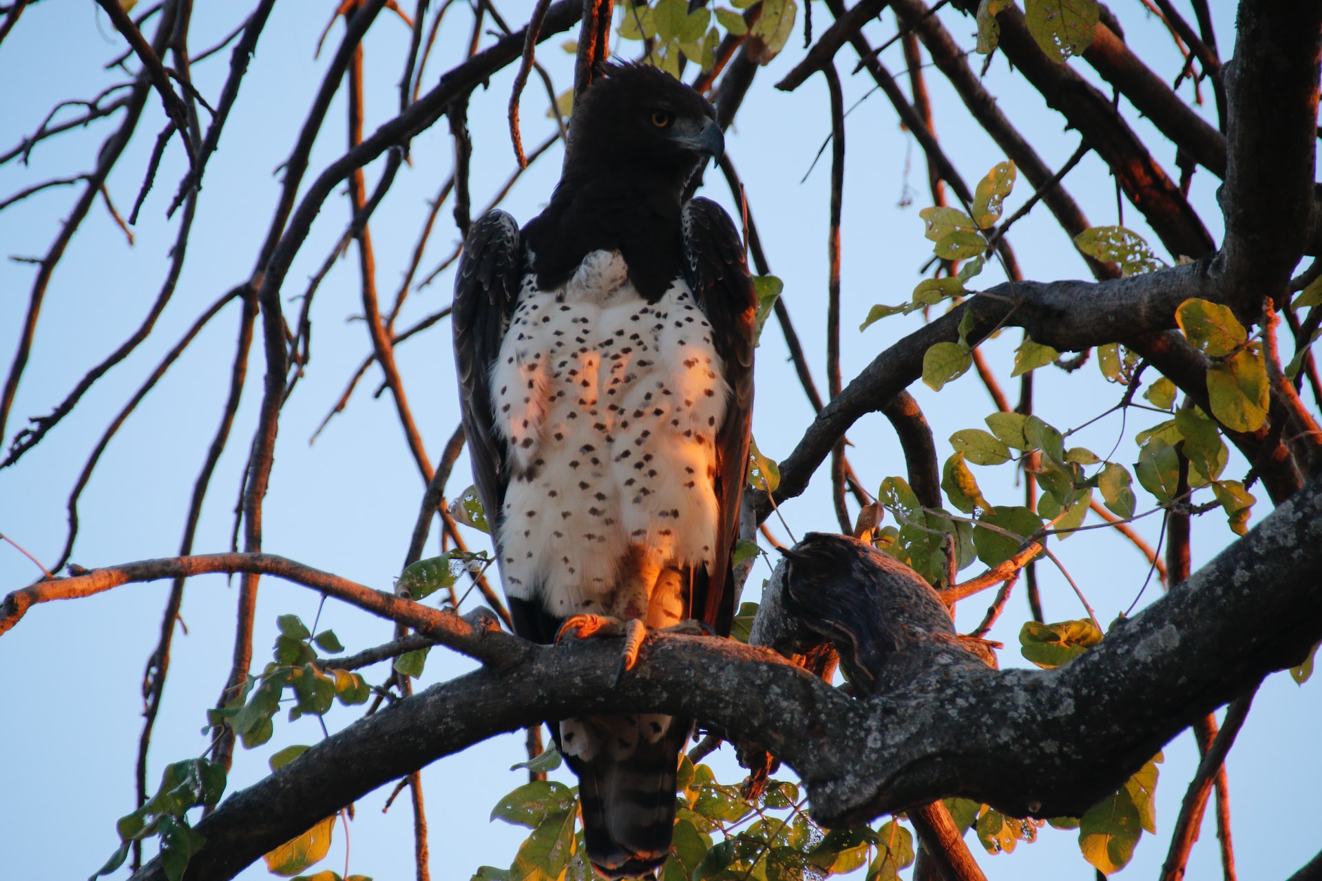
[[119, 818], [115, 824], [119, 848], [91, 876], [91, 881], [123, 865], [134, 841], [153, 836], [160, 839], [160, 861], [165, 877], [169, 881], [184, 877], [188, 861], [206, 844], [206, 837], [189, 826], [188, 811], [219, 802], [225, 793], [225, 777], [223, 765], [205, 758], [167, 765], [156, 794], [132, 814]]

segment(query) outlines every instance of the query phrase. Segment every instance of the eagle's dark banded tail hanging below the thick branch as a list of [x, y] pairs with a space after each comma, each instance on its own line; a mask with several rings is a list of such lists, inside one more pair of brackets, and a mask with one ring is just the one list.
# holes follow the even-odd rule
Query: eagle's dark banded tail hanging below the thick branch
[[691, 720], [672, 719], [654, 742], [639, 737], [631, 756], [607, 750], [570, 758], [579, 777], [587, 857], [607, 878], [648, 878], [670, 853], [676, 771]]

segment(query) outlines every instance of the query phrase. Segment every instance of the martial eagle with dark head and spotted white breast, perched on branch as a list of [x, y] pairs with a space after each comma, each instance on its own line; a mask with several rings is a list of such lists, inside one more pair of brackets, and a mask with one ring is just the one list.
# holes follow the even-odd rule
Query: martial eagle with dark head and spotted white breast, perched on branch
[[[568, 619], [579, 635], [686, 619], [727, 635], [756, 295], [730, 217], [683, 201], [723, 137], [669, 74], [599, 74], [546, 210], [522, 230], [490, 211], [464, 243], [453, 325], [473, 477], [520, 635], [549, 643]], [[579, 777], [588, 859], [650, 877], [693, 720], [550, 728]]]

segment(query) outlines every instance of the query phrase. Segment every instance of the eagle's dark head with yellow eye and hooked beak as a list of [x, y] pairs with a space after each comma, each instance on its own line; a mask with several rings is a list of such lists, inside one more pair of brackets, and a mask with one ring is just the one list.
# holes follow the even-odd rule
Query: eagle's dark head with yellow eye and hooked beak
[[658, 67], [603, 65], [570, 120], [566, 177], [646, 168], [682, 189], [719, 159], [724, 137], [706, 98]]

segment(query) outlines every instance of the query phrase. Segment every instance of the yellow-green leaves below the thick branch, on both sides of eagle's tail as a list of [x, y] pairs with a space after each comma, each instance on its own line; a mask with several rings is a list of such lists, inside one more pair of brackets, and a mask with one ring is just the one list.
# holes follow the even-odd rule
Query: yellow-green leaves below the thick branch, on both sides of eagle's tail
[[[559, 765], [554, 756], [533, 763]], [[677, 774], [674, 837], [661, 881], [802, 881], [867, 866], [869, 881], [898, 881], [914, 863], [914, 835], [895, 820], [878, 828], [824, 831], [802, 811], [798, 786], [769, 779], [756, 800], [739, 786], [719, 783], [706, 765], [681, 758]], [[531, 832], [509, 869], [484, 865], [473, 881], [590, 881], [592, 870], [576, 829], [578, 787], [554, 781], [520, 786], [492, 810], [492, 820]]]

